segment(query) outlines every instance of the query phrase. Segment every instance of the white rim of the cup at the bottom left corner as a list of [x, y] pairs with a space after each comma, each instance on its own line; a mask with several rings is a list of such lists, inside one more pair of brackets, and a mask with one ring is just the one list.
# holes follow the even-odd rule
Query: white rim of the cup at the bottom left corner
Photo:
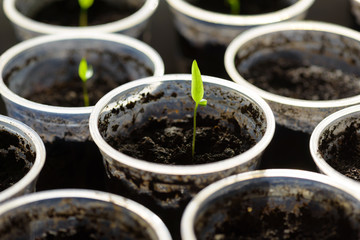
[[37, 201], [64, 198], [89, 199], [121, 206], [130, 210], [131, 213], [135, 213], [139, 218], [142, 218], [145, 222], [147, 222], [156, 233], [158, 239], [171, 240], [170, 232], [164, 222], [151, 210], [131, 199], [98, 190], [56, 189], [31, 193], [2, 204], [0, 206], [0, 215]]

